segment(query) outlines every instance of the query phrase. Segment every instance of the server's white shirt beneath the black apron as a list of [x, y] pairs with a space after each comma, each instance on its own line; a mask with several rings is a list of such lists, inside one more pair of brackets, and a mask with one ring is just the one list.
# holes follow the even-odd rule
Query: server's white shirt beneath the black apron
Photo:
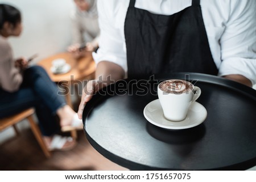
[[[96, 63], [111, 61], [127, 71], [124, 24], [130, 0], [98, 0], [100, 48]], [[172, 15], [192, 0], [137, 0], [135, 7]], [[218, 75], [241, 74], [256, 83], [256, 1], [201, 0], [210, 50]]]

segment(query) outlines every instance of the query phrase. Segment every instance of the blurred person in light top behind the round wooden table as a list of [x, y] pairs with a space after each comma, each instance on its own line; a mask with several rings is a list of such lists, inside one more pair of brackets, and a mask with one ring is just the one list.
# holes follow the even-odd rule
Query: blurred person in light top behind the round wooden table
[[[82, 57], [86, 51], [98, 48], [100, 28], [98, 26], [98, 12], [96, 0], [73, 0], [76, 9], [71, 13], [72, 42], [68, 51], [75, 58]], [[81, 47], [84, 47], [81, 49]]]

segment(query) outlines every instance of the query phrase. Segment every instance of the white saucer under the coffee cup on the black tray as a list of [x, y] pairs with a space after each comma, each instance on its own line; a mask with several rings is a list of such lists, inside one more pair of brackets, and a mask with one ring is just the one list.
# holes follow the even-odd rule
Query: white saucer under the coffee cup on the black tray
[[187, 129], [200, 125], [207, 117], [207, 110], [205, 107], [196, 101], [188, 110], [187, 117], [182, 121], [170, 121], [163, 115], [163, 109], [160, 105], [159, 99], [153, 100], [144, 108], [144, 117], [151, 122], [151, 124], [165, 129]]

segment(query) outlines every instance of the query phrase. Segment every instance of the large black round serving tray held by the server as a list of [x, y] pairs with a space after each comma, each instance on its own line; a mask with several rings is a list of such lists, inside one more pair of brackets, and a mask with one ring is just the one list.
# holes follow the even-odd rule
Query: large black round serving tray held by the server
[[[201, 88], [197, 101], [208, 112], [202, 124], [166, 130], [144, 118], [144, 107], [158, 98], [157, 84], [166, 79], [186, 79]], [[224, 78], [174, 73], [117, 82], [86, 104], [83, 121], [92, 146], [130, 170], [245, 170], [256, 165], [256, 91]]]

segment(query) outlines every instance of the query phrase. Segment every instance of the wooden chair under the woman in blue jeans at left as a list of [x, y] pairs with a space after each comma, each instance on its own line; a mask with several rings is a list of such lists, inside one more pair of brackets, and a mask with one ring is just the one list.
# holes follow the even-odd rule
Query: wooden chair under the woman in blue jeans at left
[[40, 147], [42, 148], [44, 155], [46, 155], [46, 157], [48, 158], [49, 156], [51, 156], [51, 153], [47, 149], [46, 143], [44, 143], [43, 141], [42, 134], [39, 130], [39, 127], [38, 125], [36, 125], [34, 118], [32, 117], [34, 112], [35, 112], [34, 109], [30, 108], [16, 115], [0, 119], [0, 132], [3, 129], [8, 128], [9, 126], [13, 126], [15, 133], [19, 134], [15, 124], [27, 118], [27, 120], [30, 122], [31, 130], [34, 133], [36, 140], [38, 141]]

